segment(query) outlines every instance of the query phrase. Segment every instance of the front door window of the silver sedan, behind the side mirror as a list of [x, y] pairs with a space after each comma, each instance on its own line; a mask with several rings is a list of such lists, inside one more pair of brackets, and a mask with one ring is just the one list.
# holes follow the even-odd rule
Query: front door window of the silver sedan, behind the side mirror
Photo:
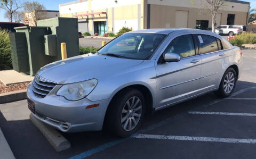
[[181, 58], [194, 56], [195, 45], [192, 35], [182, 35], [173, 39], [165, 49], [165, 53], [179, 54]]

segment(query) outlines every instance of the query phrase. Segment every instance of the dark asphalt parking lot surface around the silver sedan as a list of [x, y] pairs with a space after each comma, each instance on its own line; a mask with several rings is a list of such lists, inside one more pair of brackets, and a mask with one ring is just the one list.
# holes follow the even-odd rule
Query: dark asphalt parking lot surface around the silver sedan
[[130, 138], [62, 133], [71, 148], [55, 152], [29, 120], [26, 100], [1, 104], [0, 125], [16, 158], [255, 158], [256, 51], [242, 53], [233, 95], [219, 99], [210, 93], [157, 111]]

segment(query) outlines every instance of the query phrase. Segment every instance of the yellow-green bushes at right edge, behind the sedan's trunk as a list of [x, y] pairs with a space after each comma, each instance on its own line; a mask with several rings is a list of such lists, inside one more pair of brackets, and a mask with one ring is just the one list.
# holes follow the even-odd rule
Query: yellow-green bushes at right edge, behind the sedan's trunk
[[252, 32], [243, 32], [242, 34], [235, 35], [234, 39], [229, 41], [232, 45], [241, 46], [242, 44], [255, 44], [256, 34]]

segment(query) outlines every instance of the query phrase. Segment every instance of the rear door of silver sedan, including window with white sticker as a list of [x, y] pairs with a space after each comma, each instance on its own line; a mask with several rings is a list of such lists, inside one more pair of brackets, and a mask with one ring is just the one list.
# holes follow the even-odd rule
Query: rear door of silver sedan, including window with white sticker
[[[210, 35], [196, 35], [199, 55], [202, 59], [201, 79], [198, 93], [204, 93], [219, 87], [222, 73], [222, 52], [220, 40]], [[220, 46], [220, 47], [218, 47]]]

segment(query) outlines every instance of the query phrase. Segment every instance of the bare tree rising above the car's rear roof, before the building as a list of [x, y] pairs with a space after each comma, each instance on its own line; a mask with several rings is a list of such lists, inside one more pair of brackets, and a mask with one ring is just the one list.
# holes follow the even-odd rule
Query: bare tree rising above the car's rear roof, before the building
[[215, 32], [215, 21], [216, 21], [216, 13], [220, 7], [225, 5], [227, 0], [205, 0], [205, 9], [209, 10], [212, 16], [212, 32]]

